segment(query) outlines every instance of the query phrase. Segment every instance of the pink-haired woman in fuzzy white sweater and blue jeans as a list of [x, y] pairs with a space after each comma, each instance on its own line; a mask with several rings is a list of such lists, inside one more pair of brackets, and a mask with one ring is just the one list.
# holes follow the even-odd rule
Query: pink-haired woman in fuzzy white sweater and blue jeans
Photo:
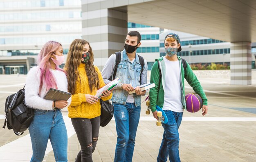
[[60, 43], [49, 41], [38, 54], [38, 66], [27, 74], [25, 103], [35, 109], [29, 126], [33, 155], [30, 162], [41, 162], [50, 139], [56, 162], [67, 162], [67, 129], [61, 109], [70, 101], [50, 101], [43, 97], [50, 88], [67, 92], [67, 76], [59, 68], [64, 61]]

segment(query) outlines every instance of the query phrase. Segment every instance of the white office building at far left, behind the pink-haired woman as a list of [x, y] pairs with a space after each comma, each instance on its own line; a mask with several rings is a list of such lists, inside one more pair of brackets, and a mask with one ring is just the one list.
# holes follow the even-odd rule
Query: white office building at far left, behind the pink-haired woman
[[49, 40], [81, 38], [81, 0], [0, 0], [0, 74], [27, 74]]

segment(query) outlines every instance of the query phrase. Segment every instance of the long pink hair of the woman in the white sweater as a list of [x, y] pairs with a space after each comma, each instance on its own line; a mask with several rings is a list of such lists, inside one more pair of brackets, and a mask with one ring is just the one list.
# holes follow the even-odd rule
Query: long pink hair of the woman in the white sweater
[[[58, 48], [62, 46], [58, 42], [54, 41], [48, 41], [46, 44], [43, 45], [42, 49], [40, 50], [40, 53], [38, 54], [38, 66], [40, 68], [41, 74], [40, 74], [40, 86], [39, 86], [39, 94], [41, 93], [43, 84], [46, 86], [46, 90], [48, 91], [50, 88], [58, 89], [55, 77], [51, 72], [51, 63], [50, 63], [50, 57], [52, 54], [56, 53]], [[65, 72], [63, 69], [59, 68], [58, 66], [55, 66], [56, 70], [60, 70]], [[65, 72], [66, 74], [66, 72]]]

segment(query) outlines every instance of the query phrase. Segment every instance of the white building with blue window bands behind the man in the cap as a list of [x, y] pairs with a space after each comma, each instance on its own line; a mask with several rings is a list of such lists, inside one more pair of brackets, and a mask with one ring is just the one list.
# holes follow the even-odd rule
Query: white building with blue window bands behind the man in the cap
[[[230, 42], [224, 42], [209, 37], [202, 37], [179, 31], [166, 31], [159, 35], [160, 38], [160, 56], [164, 53], [164, 37], [168, 33], [176, 33], [180, 37], [182, 51], [177, 55], [186, 59], [191, 64], [227, 64], [230, 66]], [[252, 43], [252, 54], [256, 54], [256, 43]], [[252, 68], [255, 69], [255, 58], [252, 55]]]

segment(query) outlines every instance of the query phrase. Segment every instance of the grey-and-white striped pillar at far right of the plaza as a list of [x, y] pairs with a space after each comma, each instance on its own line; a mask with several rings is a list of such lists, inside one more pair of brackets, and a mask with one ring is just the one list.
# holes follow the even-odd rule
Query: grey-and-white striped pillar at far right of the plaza
[[231, 85], [252, 84], [251, 42], [231, 42], [230, 69]]

